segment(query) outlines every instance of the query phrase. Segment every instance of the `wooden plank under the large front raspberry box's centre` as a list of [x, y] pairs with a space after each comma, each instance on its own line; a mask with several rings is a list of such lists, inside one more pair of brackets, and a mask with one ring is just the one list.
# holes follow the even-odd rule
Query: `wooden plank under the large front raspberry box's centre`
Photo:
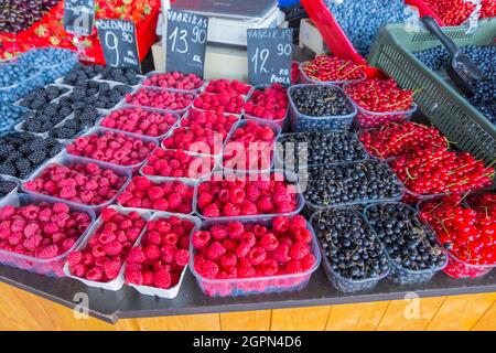
[[220, 314], [222, 331], [268, 331], [271, 310], [227, 312]]

